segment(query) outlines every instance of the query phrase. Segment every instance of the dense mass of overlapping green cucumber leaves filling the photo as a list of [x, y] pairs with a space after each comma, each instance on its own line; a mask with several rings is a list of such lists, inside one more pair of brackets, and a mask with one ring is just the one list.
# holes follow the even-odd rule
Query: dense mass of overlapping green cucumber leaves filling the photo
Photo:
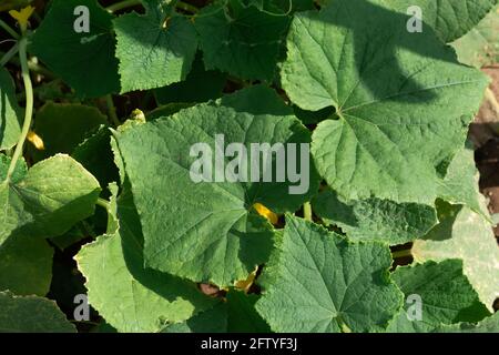
[[[55, 79], [24, 158], [29, 100], [0, 69], [0, 331], [74, 332], [45, 296], [54, 248], [75, 247], [119, 332], [499, 332], [499, 248], [466, 144], [489, 83], [467, 64], [497, 59], [496, 0], [89, 0], [78, 33], [80, 4], [52, 0], [22, 34]], [[113, 95], [145, 114], [116, 116]], [[217, 134], [309, 143], [308, 191], [193, 182], [190, 146]], [[401, 244], [414, 262], [395, 268]]]

